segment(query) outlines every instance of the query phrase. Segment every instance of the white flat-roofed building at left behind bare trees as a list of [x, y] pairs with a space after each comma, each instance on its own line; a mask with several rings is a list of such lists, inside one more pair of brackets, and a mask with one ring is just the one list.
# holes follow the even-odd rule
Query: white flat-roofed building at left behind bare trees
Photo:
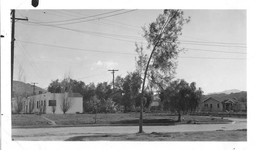
[[[23, 99], [24, 109], [23, 113], [29, 112], [30, 106], [33, 107], [33, 113], [41, 112], [46, 114], [53, 114], [52, 109], [55, 108], [55, 114], [62, 114], [63, 112], [60, 109], [60, 102], [63, 96], [71, 99], [73, 105], [70, 110], [66, 113], [82, 113], [82, 95], [80, 93], [40, 93], [37, 95], [28, 96]], [[28, 111], [27, 111], [28, 109]], [[12, 111], [15, 112], [15, 100], [12, 102]]]

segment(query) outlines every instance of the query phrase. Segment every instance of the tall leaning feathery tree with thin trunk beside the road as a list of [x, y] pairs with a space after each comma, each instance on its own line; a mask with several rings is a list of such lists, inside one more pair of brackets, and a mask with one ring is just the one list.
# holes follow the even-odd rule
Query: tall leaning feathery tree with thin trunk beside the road
[[[183, 17], [181, 10], [164, 10], [156, 21], [149, 24], [148, 28], [143, 28], [143, 37], [146, 39], [150, 49], [149, 55], [140, 53], [141, 48], [136, 45], [136, 52], [139, 55], [137, 60], [143, 64], [142, 68], [142, 97], [140, 103], [140, 123], [139, 133], [142, 133], [142, 113], [143, 113], [143, 99], [144, 86], [146, 79], [151, 86], [158, 86], [164, 88], [165, 84], [172, 79], [172, 74], [175, 72], [179, 52], [183, 49], [178, 49], [178, 36], [181, 35], [182, 26], [189, 21], [190, 18]], [[140, 57], [142, 55], [142, 57]], [[143, 57], [144, 56], [144, 57]]]

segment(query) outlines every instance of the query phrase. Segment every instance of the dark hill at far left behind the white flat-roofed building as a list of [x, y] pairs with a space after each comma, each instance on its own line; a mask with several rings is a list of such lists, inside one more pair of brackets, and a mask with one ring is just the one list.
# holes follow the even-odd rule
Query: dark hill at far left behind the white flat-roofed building
[[[33, 85], [31, 85], [31, 84], [29, 84], [29, 83], [20, 82], [20, 81], [13, 81], [13, 92], [16, 92], [16, 88], [15, 88], [15, 87], [16, 87], [18, 84], [19, 84], [21, 87], [24, 88], [24, 91], [25, 91], [25, 92], [27, 92], [27, 93], [29, 93], [29, 94], [32, 94], [32, 93], [33, 93], [33, 90], [34, 90]], [[42, 88], [40, 88], [40, 87], [35, 86], [35, 93], [38, 94], [39, 91], [42, 91], [42, 93], [47, 92], [47, 90], [44, 90], [44, 89], [42, 89]]]

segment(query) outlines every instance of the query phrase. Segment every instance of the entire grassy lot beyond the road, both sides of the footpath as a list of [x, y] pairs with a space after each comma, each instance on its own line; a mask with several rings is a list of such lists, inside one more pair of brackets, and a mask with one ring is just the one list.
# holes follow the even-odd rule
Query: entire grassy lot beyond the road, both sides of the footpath
[[[46, 118], [54, 121], [56, 124], [93, 124], [95, 123], [95, 114], [43, 114], [38, 115], [12, 115], [12, 126], [31, 126], [31, 125], [50, 125]], [[182, 116], [183, 122], [229, 122], [230, 120], [203, 117], [203, 116]], [[144, 113], [144, 123], [174, 123], [178, 119], [177, 115], [167, 113]], [[113, 113], [97, 114], [97, 124], [126, 124], [139, 123], [138, 113]]]

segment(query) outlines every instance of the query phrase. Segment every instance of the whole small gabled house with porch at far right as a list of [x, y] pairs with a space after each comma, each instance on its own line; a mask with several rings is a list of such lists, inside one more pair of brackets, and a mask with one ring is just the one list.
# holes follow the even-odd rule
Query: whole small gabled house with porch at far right
[[229, 96], [225, 97], [206, 97], [203, 100], [202, 111], [225, 111], [239, 109], [240, 102]]

